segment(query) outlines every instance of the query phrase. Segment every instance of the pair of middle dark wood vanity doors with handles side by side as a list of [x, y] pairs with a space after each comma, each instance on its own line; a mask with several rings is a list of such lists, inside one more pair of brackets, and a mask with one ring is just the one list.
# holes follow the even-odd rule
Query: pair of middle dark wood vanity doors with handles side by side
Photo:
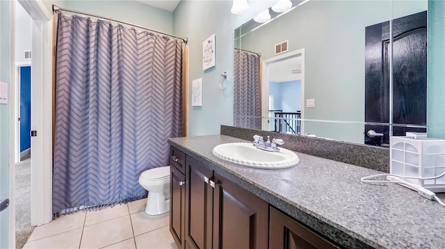
[[190, 248], [268, 248], [268, 203], [186, 157]]

